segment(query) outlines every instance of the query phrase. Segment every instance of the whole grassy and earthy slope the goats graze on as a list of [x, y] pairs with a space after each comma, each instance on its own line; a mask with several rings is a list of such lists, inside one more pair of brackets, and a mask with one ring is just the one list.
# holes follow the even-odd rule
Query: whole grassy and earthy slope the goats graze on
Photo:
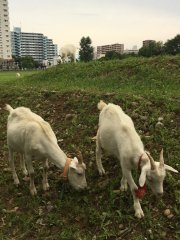
[[[69, 190], [61, 199], [62, 183], [58, 170], [51, 166], [51, 190], [43, 193], [39, 163], [34, 163], [38, 196], [30, 197], [28, 183], [22, 180], [16, 189], [10, 172], [6, 172], [7, 114], [0, 111], [0, 239], [175, 239], [178, 176], [167, 175], [162, 200], [155, 200], [148, 191], [142, 201], [145, 218], [135, 220], [130, 192], [113, 192], [120, 184], [118, 162], [113, 164], [111, 158], [104, 157], [107, 176], [100, 178], [91, 137], [97, 130], [99, 99], [120, 104], [133, 118], [154, 158], [158, 159], [163, 147], [166, 162], [178, 169], [180, 58], [66, 64], [22, 75], [16, 79], [13, 72], [0, 72], [0, 107], [6, 102], [30, 107], [51, 123], [64, 151], [75, 155], [80, 148], [90, 190], [81, 194]], [[75, 117], [66, 119], [69, 113]], [[156, 128], [160, 116], [164, 126]], [[19, 170], [18, 174], [22, 179]], [[16, 212], [3, 210], [14, 207], [18, 207]], [[166, 208], [171, 209], [172, 219], [163, 216]]]

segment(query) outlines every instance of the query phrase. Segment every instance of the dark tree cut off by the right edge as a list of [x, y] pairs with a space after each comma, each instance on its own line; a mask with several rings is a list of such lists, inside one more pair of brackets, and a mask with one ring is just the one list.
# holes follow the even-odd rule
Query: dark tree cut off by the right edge
[[167, 54], [173, 55], [180, 53], [180, 34], [164, 44], [164, 51]]

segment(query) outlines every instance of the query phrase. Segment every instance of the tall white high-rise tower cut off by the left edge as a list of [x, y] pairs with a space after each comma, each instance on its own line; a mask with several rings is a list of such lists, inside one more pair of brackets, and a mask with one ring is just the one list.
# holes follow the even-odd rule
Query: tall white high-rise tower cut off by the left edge
[[0, 0], [0, 59], [12, 59], [8, 0]]

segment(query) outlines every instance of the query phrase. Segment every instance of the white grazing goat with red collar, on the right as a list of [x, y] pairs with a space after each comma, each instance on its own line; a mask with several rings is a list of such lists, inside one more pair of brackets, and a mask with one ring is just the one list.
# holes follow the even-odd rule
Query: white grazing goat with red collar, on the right
[[[134, 199], [135, 216], [141, 218], [144, 213], [139, 198], [145, 191], [146, 180], [154, 194], [162, 195], [166, 170], [176, 173], [178, 171], [164, 164], [163, 151], [160, 153], [160, 162], [153, 160], [150, 154], [144, 150], [132, 119], [119, 106], [100, 101], [98, 109], [101, 111], [96, 138], [96, 163], [99, 174], [105, 173], [101, 162], [102, 149], [104, 149], [109, 155], [114, 155], [119, 159], [122, 168], [120, 189], [126, 191], [127, 183], [129, 184]], [[141, 171], [140, 187], [136, 185], [131, 174], [131, 170], [138, 167]]]

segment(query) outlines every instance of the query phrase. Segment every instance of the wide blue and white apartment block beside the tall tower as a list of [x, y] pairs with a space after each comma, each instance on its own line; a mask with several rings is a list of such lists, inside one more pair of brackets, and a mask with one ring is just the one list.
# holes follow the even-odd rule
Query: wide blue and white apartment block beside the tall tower
[[21, 32], [15, 27], [11, 32], [12, 55], [16, 57], [31, 56], [35, 61], [43, 63], [44, 60], [53, 63], [58, 55], [57, 44], [42, 33]]

